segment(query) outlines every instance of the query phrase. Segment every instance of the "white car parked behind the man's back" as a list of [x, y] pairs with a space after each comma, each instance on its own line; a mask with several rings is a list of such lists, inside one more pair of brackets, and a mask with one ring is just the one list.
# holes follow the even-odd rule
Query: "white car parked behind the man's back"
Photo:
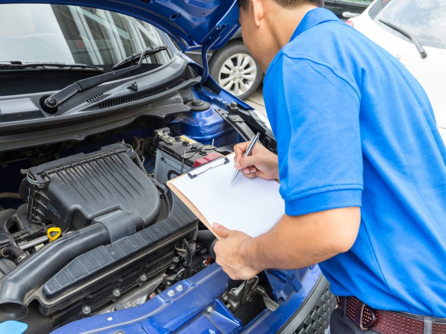
[[375, 0], [348, 22], [418, 79], [446, 142], [446, 1]]

